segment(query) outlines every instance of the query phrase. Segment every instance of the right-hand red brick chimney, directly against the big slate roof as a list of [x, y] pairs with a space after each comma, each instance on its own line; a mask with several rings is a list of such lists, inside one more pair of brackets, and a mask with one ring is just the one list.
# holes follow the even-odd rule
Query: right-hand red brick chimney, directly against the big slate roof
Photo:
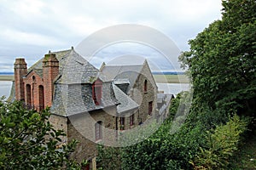
[[45, 54], [43, 60], [44, 105], [51, 106], [54, 91], [54, 80], [59, 75], [59, 61], [55, 54]]

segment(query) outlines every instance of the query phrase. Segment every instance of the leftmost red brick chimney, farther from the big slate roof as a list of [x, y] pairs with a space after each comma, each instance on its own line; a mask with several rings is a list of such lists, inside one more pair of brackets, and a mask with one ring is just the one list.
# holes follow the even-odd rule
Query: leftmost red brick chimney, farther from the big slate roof
[[17, 100], [25, 99], [23, 77], [26, 74], [25, 59], [15, 59], [15, 99]]

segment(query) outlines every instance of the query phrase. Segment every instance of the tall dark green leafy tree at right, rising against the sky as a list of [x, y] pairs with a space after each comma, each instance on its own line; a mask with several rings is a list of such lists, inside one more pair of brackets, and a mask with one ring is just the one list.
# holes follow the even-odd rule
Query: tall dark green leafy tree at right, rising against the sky
[[190, 40], [190, 50], [179, 59], [189, 69], [197, 111], [207, 105], [210, 110], [255, 116], [256, 2], [222, 3], [222, 19]]

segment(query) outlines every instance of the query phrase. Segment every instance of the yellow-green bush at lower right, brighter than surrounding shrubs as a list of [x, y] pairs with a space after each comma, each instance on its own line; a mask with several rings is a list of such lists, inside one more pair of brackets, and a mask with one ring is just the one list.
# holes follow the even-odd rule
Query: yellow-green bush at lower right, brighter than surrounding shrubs
[[226, 169], [229, 159], [237, 150], [241, 133], [247, 130], [247, 119], [234, 116], [225, 125], [207, 132], [207, 145], [190, 161], [195, 169]]

